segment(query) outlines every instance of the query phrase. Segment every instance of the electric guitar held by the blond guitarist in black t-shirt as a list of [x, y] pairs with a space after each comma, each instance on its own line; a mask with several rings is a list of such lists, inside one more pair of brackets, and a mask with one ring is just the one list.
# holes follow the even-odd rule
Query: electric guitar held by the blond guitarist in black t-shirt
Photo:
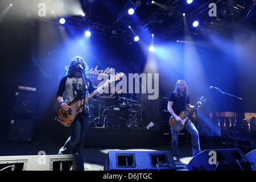
[[187, 111], [181, 111], [180, 115], [178, 115], [180, 117], [180, 119], [182, 120], [182, 122], [180, 121], [176, 121], [176, 119], [172, 116], [169, 119], [169, 125], [172, 127], [173, 130], [175, 131], [181, 131], [184, 129], [184, 125], [185, 122], [187, 121], [187, 117], [189, 114], [191, 114], [195, 109], [198, 109], [199, 105], [203, 104], [206, 101], [205, 97], [201, 97], [200, 100], [196, 103], [196, 105], [187, 110]]

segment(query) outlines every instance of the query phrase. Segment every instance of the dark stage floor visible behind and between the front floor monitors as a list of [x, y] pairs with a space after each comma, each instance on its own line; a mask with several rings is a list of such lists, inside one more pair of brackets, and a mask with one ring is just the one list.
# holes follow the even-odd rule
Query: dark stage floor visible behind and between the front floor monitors
[[[175, 162], [176, 167], [185, 168], [192, 159], [192, 149], [190, 143], [180, 143], [180, 159]], [[45, 152], [46, 155], [56, 155], [60, 146], [56, 143], [2, 143], [0, 146], [0, 156], [17, 156], [17, 155], [38, 155], [39, 152]], [[209, 147], [201, 147], [202, 150], [208, 150]], [[127, 151], [171, 151], [171, 144], [165, 143], [160, 147], [99, 147], [84, 148], [82, 155], [84, 156], [85, 171], [103, 171], [106, 156], [110, 150], [127, 150]], [[186, 170], [186, 169], [179, 169]]]

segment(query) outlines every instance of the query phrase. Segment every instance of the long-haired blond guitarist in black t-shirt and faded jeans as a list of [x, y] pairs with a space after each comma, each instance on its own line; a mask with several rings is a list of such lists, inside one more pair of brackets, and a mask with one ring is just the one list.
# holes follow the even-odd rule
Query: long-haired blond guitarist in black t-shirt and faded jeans
[[[172, 117], [175, 118], [177, 122], [182, 122], [183, 120], [179, 117], [181, 111], [187, 110], [187, 108], [192, 108], [190, 104], [190, 99], [188, 96], [188, 86], [184, 80], [178, 80], [174, 89], [168, 98], [168, 111], [171, 113]], [[192, 138], [192, 154], [195, 156], [198, 154], [200, 149], [199, 143], [199, 133], [193, 123], [187, 119], [184, 124], [184, 128], [191, 134]], [[172, 154], [174, 156], [174, 160], [177, 160], [180, 156], [179, 147], [178, 147], [178, 136], [179, 131], [175, 131], [171, 128], [172, 134]]]

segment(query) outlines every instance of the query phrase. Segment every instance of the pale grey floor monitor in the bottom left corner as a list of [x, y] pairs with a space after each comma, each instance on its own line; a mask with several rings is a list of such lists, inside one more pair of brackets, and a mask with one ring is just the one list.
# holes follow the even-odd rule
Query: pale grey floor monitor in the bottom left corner
[[0, 171], [84, 171], [82, 155], [0, 156]]

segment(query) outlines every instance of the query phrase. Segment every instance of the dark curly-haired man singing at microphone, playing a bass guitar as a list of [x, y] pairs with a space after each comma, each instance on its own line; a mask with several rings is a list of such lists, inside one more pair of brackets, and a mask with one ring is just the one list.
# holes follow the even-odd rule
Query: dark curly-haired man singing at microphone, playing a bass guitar
[[[82, 100], [84, 96], [89, 96], [95, 88], [92, 81], [86, 76], [86, 64], [82, 57], [74, 57], [67, 71], [59, 84], [56, 93], [56, 101], [59, 103], [61, 110], [68, 112], [71, 108], [68, 106], [75, 98]], [[63, 101], [63, 93], [66, 98]], [[60, 148], [59, 154], [81, 154], [85, 141], [85, 131], [89, 119], [89, 104], [84, 102], [81, 105], [83, 111], [76, 115], [71, 127], [71, 136], [67, 139], [64, 146]]]

